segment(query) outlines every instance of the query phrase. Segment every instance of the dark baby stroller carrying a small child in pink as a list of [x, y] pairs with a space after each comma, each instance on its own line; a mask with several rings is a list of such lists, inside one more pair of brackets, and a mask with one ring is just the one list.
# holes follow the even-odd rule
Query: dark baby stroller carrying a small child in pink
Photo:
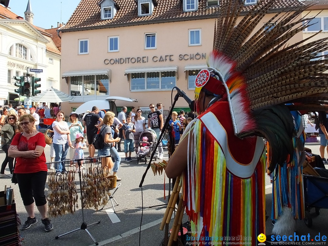
[[[146, 140], [147, 141], [143, 141]], [[139, 146], [138, 146], [138, 154], [137, 154], [137, 164], [142, 159], [145, 159], [145, 164], [147, 164], [147, 156], [150, 157], [152, 151], [154, 151], [154, 146], [157, 143], [157, 135], [154, 130], [146, 129], [143, 130], [139, 137]], [[154, 156], [156, 160], [156, 156]]]

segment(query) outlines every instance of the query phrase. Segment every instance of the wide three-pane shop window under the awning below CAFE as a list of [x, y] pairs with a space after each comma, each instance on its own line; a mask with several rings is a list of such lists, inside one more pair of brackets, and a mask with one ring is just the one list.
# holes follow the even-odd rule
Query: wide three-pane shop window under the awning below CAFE
[[131, 91], [170, 90], [175, 86], [175, 81], [175, 72], [131, 73]]

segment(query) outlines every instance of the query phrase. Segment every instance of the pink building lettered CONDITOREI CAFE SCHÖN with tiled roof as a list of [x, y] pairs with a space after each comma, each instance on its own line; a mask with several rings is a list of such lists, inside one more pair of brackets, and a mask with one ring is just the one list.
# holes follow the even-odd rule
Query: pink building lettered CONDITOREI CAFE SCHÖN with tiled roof
[[[245, 11], [256, 4], [246, 2]], [[293, 4], [281, 1], [276, 7]], [[207, 67], [213, 47], [218, 8], [219, 1], [211, 0], [82, 0], [59, 29], [61, 90], [74, 96], [62, 109], [71, 112], [90, 100], [123, 96], [138, 103], [117, 101], [117, 106], [148, 109], [160, 102], [170, 110], [175, 86], [194, 98], [195, 77]], [[300, 33], [294, 41], [301, 38]], [[190, 111], [182, 98], [175, 107]]]

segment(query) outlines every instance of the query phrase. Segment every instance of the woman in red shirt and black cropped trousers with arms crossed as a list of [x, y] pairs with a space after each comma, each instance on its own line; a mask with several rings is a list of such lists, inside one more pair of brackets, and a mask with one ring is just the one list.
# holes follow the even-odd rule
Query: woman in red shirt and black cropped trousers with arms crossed
[[14, 173], [28, 214], [28, 218], [21, 229], [26, 230], [37, 222], [34, 216], [35, 200], [45, 230], [50, 231], [53, 226], [47, 217], [47, 200], [44, 194], [48, 172], [44, 154], [46, 142], [44, 135], [33, 127], [34, 121], [35, 119], [31, 114], [25, 114], [19, 118], [19, 125], [22, 127], [23, 132], [14, 136], [8, 155], [16, 158]]

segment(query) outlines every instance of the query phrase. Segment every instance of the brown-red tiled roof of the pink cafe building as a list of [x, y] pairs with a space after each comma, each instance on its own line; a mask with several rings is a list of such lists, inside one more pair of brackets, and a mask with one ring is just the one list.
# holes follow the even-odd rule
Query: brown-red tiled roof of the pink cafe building
[[[267, 1], [267, 0], [264, 0]], [[115, 0], [119, 6], [111, 20], [101, 20], [99, 0], [81, 0], [67, 24], [61, 31], [107, 28], [115, 26], [143, 25], [169, 21], [216, 18], [217, 7], [207, 7], [207, 0], [198, 1], [197, 11], [183, 12], [183, 0], [157, 0], [152, 15], [138, 16], [135, 0]], [[299, 6], [297, 0], [277, 0], [274, 9]], [[244, 6], [245, 11], [253, 5]]]

